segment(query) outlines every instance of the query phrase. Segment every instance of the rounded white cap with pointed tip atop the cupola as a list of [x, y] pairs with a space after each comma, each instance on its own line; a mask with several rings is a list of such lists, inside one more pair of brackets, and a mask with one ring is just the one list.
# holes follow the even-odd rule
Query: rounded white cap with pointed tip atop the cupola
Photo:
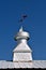
[[17, 34], [15, 36], [14, 39], [15, 40], [19, 40], [19, 39], [27, 39], [27, 40], [29, 40], [29, 38], [30, 38], [29, 33], [24, 31], [22, 30], [22, 26], [21, 26], [21, 28], [19, 29], [19, 32], [17, 32]]

